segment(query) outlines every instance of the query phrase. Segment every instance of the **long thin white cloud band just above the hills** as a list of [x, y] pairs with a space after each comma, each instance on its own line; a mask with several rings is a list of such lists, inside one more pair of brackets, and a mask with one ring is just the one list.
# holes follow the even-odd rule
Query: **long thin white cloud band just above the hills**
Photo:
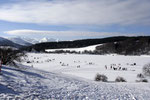
[[88, 31], [39, 31], [39, 30], [11, 30], [5, 32], [9, 35], [17, 35], [17, 36], [32, 36], [32, 35], [47, 35], [50, 37], [109, 37], [109, 36], [138, 36], [145, 34], [138, 33], [119, 33], [119, 32], [88, 32]]

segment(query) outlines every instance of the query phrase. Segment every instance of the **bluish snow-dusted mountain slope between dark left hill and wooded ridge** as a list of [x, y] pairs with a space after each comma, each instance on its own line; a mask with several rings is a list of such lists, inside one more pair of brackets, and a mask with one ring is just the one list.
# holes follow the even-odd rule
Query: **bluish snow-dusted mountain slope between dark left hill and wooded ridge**
[[20, 37], [13, 37], [13, 38], [8, 38], [10, 41], [23, 45], [23, 46], [29, 46], [32, 45], [30, 42], [25, 41], [24, 39], [20, 38]]

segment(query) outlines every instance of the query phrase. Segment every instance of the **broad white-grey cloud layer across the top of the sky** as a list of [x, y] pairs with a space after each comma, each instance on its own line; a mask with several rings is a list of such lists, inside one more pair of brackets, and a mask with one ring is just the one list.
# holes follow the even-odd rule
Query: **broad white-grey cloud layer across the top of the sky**
[[0, 7], [0, 20], [49, 25], [149, 25], [149, 0], [30, 0]]

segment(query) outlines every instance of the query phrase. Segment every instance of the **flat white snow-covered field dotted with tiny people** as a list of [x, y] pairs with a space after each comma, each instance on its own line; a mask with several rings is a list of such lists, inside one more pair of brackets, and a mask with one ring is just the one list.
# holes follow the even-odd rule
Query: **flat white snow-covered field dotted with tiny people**
[[94, 80], [97, 73], [106, 75], [108, 81], [115, 81], [116, 77], [121, 76], [133, 83], [137, 80], [137, 74], [142, 73], [143, 65], [149, 62], [150, 56], [30, 53], [23, 64], [89, 80]]

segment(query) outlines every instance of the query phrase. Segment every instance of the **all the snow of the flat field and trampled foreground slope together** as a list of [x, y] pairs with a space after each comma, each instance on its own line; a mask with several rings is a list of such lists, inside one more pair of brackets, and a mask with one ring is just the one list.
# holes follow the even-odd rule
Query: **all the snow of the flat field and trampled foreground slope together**
[[[136, 75], [142, 72], [142, 66], [150, 62], [150, 56], [44, 53], [28, 53], [27, 56], [28, 58], [18, 65], [19, 68], [2, 67], [1, 100], [149, 100], [150, 98], [150, 84], [135, 82]], [[105, 69], [105, 65], [110, 64], [121, 64], [121, 67], [128, 70]], [[96, 73], [105, 74], [108, 82], [95, 82]], [[117, 76], [123, 76], [127, 82], [114, 82]]]

